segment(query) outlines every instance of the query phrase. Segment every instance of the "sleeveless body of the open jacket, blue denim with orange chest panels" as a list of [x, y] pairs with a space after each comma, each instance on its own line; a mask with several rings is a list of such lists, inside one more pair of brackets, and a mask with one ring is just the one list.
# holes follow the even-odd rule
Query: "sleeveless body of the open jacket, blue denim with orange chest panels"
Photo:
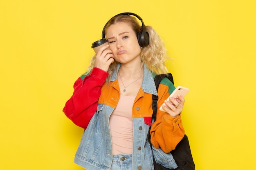
[[[110, 170], [112, 163], [112, 142], [109, 126], [109, 118], [119, 100], [119, 86], [117, 74], [111, 77], [110, 86], [101, 95], [108, 95], [108, 99], [99, 99], [97, 112], [92, 116], [88, 127], [84, 130], [81, 142], [76, 151], [74, 162], [88, 170]], [[149, 94], [149, 95], [148, 95]], [[141, 89], [135, 98], [132, 108], [133, 121], [133, 170], [153, 170], [153, 157], [150, 144], [147, 140], [149, 125], [145, 123], [144, 117], [151, 117], [150, 113], [143, 112], [144, 107], [148, 109], [152, 102], [152, 94], [157, 95], [153, 75], [144, 64], [144, 76]], [[151, 98], [150, 98], [151, 97]], [[140, 102], [138, 102], [140, 100]], [[147, 102], [147, 103], [146, 103]], [[137, 103], [140, 104], [137, 105]], [[145, 104], [145, 106], [144, 106]], [[140, 112], [140, 114], [135, 112]], [[177, 168], [177, 164], [171, 153], [164, 153], [160, 148], [153, 147], [154, 157], [157, 163], [168, 168]]]

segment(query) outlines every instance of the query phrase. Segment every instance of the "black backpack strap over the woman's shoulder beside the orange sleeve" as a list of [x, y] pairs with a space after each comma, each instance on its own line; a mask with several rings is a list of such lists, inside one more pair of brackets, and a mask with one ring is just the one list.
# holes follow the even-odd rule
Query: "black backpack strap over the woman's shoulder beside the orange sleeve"
[[[157, 88], [157, 91], [158, 91], [159, 84], [162, 81], [162, 79], [164, 79], [164, 77], [167, 77], [174, 84], [174, 82], [173, 82], [173, 75], [171, 73], [158, 74], [154, 78], [154, 80], [155, 80], [155, 87]], [[152, 104], [153, 115], [152, 115], [152, 119], [155, 122], [156, 119], [157, 119], [157, 100], [158, 100], [158, 96], [157, 95], [153, 95], [152, 98], [153, 98], [153, 104]]]

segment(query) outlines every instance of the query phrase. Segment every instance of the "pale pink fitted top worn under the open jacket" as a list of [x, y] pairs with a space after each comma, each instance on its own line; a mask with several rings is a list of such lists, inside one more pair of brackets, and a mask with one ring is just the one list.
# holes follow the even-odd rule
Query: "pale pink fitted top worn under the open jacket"
[[117, 107], [110, 116], [113, 155], [132, 154], [132, 106], [135, 97], [121, 95]]

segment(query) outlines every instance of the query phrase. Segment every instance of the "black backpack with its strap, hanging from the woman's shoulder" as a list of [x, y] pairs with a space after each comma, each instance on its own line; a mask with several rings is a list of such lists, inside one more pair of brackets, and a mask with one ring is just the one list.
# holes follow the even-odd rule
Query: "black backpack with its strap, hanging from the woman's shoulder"
[[[158, 91], [158, 86], [161, 82], [161, 80], [167, 77], [173, 84], [173, 75], [171, 73], [168, 74], [160, 74], [160, 75], [156, 75], [154, 80], [155, 80], [155, 86], [157, 88]], [[158, 100], [158, 96], [153, 95], [153, 115], [152, 115], [152, 119], [154, 121], [156, 121], [156, 113], [157, 113], [157, 100]], [[148, 135], [148, 141], [150, 142], [150, 138], [151, 135], [149, 133]], [[152, 149], [152, 145], [150, 143], [151, 149]], [[195, 163], [193, 161], [193, 157], [191, 154], [191, 150], [190, 150], [190, 146], [189, 146], [189, 139], [186, 136], [186, 134], [184, 135], [184, 137], [182, 138], [182, 140], [177, 144], [175, 150], [171, 151], [171, 154], [173, 155], [173, 158], [175, 160], [175, 162], [177, 163], [177, 168], [176, 169], [169, 169], [169, 168], [165, 168], [164, 166], [162, 166], [161, 164], [158, 164], [155, 162], [155, 158], [153, 155], [153, 163], [154, 163], [154, 170], [195, 170]]]

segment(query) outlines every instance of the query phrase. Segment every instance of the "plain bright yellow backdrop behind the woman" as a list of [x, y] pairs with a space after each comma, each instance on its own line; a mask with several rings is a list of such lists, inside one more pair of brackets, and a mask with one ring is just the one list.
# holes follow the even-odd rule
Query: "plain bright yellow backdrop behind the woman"
[[1, 0], [0, 169], [82, 170], [62, 112], [104, 24], [137, 13], [163, 37], [197, 170], [255, 168], [255, 0]]

